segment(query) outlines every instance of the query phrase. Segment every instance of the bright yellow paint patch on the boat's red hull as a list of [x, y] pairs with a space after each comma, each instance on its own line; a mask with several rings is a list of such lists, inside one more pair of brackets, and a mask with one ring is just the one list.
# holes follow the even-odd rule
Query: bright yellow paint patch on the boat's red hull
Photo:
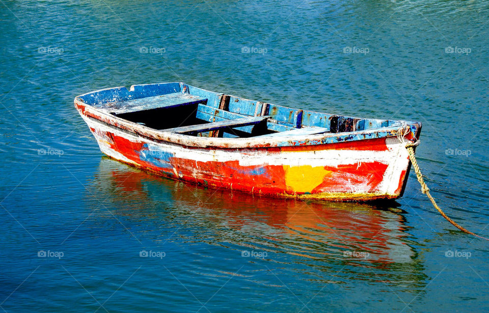
[[325, 170], [322, 166], [310, 165], [292, 167], [284, 165], [284, 171], [285, 185], [292, 192], [312, 192], [321, 184], [325, 175], [331, 174], [331, 171]]

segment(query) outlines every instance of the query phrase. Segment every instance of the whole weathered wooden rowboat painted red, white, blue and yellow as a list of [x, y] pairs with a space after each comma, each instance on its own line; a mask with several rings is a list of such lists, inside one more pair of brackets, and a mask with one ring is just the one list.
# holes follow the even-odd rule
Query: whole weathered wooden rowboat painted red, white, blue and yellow
[[403, 141], [421, 132], [419, 122], [292, 109], [183, 83], [102, 89], [74, 102], [113, 159], [271, 196], [398, 198], [411, 166]]

